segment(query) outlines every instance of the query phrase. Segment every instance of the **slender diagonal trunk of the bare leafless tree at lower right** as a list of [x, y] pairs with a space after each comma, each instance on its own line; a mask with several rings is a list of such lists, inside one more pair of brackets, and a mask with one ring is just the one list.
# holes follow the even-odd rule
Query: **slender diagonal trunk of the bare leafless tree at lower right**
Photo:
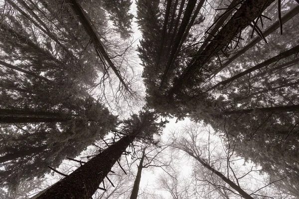
[[[185, 150], [184, 150], [185, 151]], [[225, 177], [222, 173], [219, 171], [215, 170], [213, 167], [211, 167], [209, 164], [207, 164], [205, 161], [203, 161], [201, 158], [195, 156], [193, 153], [189, 151], [185, 151], [188, 153], [190, 156], [195, 158], [202, 166], [213, 172], [215, 175], [219, 176], [224, 182], [226, 182], [231, 188], [236, 190], [244, 199], [254, 199], [252, 198], [249, 194], [247, 194], [241, 187], [236, 185], [233, 181]]]

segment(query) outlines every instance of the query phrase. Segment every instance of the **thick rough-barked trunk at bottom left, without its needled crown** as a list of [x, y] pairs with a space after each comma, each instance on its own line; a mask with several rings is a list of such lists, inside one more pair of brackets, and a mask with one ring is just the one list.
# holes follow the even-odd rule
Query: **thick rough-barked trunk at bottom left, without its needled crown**
[[132, 133], [121, 138], [69, 176], [56, 183], [38, 199], [91, 199], [100, 183], [136, 135], [137, 133]]

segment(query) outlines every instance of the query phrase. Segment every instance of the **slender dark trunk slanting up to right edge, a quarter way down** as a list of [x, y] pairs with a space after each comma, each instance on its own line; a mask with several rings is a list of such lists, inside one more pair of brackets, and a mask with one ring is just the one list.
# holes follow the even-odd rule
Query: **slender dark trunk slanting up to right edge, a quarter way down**
[[290, 50], [287, 50], [286, 52], [283, 52], [283, 53], [281, 53], [281, 54], [279, 54], [279, 55], [277, 55], [275, 57], [272, 57], [272, 58], [268, 59], [265, 62], [262, 62], [262, 63], [254, 66], [254, 67], [252, 67], [250, 69], [247, 69], [247, 70], [243, 71], [242, 73], [239, 73], [238, 75], [235, 75], [235, 76], [233, 76], [233, 77], [231, 77], [231, 78], [229, 78], [229, 79], [227, 79], [225, 81], [219, 82], [218, 84], [216, 84], [212, 88], [208, 89], [206, 92], [212, 91], [215, 88], [219, 87], [220, 85], [229, 84], [229, 83], [233, 82], [234, 80], [236, 80], [236, 79], [238, 79], [238, 78], [240, 78], [240, 77], [242, 77], [244, 75], [250, 74], [253, 71], [256, 71], [258, 69], [261, 69], [263, 67], [268, 66], [269, 64], [272, 64], [272, 63], [277, 62], [277, 61], [279, 61], [281, 59], [287, 58], [287, 57], [289, 57], [291, 55], [297, 54], [298, 52], [299, 52], [299, 46], [291, 48]]

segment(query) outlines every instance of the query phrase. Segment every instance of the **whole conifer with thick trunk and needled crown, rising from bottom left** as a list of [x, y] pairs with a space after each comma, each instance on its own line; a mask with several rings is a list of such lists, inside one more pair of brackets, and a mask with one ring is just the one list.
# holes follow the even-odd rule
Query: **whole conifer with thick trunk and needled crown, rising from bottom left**
[[125, 135], [120, 140], [59, 181], [38, 199], [91, 198], [131, 142], [135, 139], [149, 140], [153, 133], [161, 131], [165, 122], [157, 123], [156, 119], [157, 116], [153, 112], [146, 111], [140, 112], [139, 116], [135, 114], [130, 119], [124, 120], [123, 133]]

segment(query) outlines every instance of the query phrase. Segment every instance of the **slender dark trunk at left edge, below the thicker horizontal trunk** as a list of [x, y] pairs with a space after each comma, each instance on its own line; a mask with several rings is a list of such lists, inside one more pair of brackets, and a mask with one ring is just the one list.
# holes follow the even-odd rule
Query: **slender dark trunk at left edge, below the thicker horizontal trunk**
[[25, 157], [25, 156], [32, 155], [32, 154], [37, 154], [37, 153], [44, 151], [45, 149], [47, 149], [47, 146], [43, 145], [43, 146], [39, 146], [39, 147], [34, 147], [32, 149], [28, 149], [28, 150], [18, 151], [15, 153], [8, 153], [7, 155], [0, 157], [0, 163], [4, 163], [9, 160], [14, 160], [14, 159]]

